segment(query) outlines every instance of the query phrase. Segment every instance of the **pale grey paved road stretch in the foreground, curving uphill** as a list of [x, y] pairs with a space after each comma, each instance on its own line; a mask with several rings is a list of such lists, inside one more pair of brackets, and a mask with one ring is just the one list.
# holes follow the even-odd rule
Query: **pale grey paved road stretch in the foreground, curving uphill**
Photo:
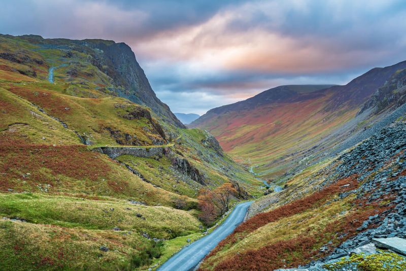
[[212, 233], [204, 238], [197, 240], [188, 247], [183, 248], [180, 252], [168, 259], [159, 271], [188, 271], [192, 270], [196, 265], [213, 250], [217, 244], [229, 235], [236, 226], [243, 222], [247, 214], [248, 207], [252, 201], [243, 202], [237, 205], [227, 219], [213, 230]]

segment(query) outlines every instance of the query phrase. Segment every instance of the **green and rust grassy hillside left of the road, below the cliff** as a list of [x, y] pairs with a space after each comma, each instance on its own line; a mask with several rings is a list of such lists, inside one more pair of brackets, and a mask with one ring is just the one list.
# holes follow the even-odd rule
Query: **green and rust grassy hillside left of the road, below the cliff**
[[[97, 49], [113, 44], [0, 37], [3, 267], [156, 268], [205, 230], [199, 189], [261, 193], [209, 133], [174, 125], [145, 93], [126, 98], [137, 100]], [[100, 147], [161, 152], [112, 159]]]

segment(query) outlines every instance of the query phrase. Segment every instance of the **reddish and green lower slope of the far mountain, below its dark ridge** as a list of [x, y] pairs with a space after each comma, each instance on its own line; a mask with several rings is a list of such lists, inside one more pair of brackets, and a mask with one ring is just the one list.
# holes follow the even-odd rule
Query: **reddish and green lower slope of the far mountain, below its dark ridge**
[[[263, 178], [277, 179], [306, 158], [309, 149], [355, 117], [357, 109], [324, 111], [331, 95], [264, 105], [238, 114], [229, 112], [198, 126], [210, 130], [235, 160], [254, 166]], [[323, 149], [332, 147], [341, 137]]]

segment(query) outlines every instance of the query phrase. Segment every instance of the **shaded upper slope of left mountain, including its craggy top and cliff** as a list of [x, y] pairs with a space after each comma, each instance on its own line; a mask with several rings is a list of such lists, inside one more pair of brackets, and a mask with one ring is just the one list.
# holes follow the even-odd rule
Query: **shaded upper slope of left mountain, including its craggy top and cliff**
[[[0, 55], [0, 58], [14, 62], [21, 62], [18, 57], [29, 58], [25, 54], [28, 51], [24, 51], [29, 47], [21, 46], [23, 41], [27, 41], [29, 46], [35, 46], [35, 48], [31, 48], [33, 51], [43, 53], [43, 59], [39, 59], [45, 66], [64, 65], [64, 69], [57, 71], [58, 76], [69, 75], [72, 79], [71, 83], [79, 80], [79, 83], [82, 82], [82, 85], [85, 86], [87, 82], [96, 83], [99, 88], [104, 89], [103, 91], [148, 106], [164, 120], [184, 127], [169, 107], [156, 97], [136, 56], [125, 43], [105, 40], [43, 39], [35, 35], [19, 36], [18, 38], [9, 35], [1, 37], [5, 52]], [[7, 44], [11, 45], [15, 41], [22, 48], [6, 47]], [[57, 53], [48, 55], [47, 51]], [[87, 63], [78, 61], [78, 58], [88, 58]], [[35, 62], [36, 59], [38, 58], [33, 58], [33, 61]], [[92, 80], [92, 77], [99, 77], [97, 80], [99, 82]]]

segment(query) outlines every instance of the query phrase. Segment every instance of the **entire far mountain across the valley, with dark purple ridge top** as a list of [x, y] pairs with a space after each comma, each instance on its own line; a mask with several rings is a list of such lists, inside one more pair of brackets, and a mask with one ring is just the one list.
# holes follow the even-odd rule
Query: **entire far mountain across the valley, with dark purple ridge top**
[[298, 163], [333, 153], [401, 106], [405, 69], [402, 61], [371, 69], [343, 86], [272, 88], [211, 109], [189, 126], [209, 130], [234, 159], [255, 166], [262, 177], [286, 180]]

